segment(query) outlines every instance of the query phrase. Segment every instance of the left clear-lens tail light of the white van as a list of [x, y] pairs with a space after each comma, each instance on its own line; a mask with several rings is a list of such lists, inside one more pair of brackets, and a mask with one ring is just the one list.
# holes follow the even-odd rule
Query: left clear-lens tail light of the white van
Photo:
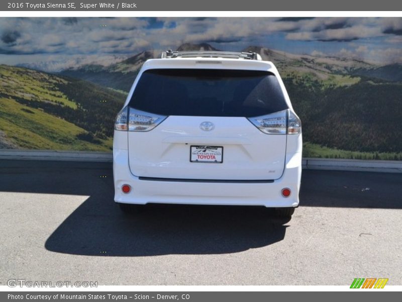
[[115, 130], [150, 131], [165, 118], [166, 116], [124, 107], [116, 117]]

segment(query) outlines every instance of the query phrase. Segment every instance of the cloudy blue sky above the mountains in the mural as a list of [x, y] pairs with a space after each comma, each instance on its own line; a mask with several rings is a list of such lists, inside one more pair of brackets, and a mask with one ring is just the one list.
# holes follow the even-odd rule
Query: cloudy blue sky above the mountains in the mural
[[402, 18], [0, 18], [0, 63], [47, 71], [200, 42], [402, 63]]

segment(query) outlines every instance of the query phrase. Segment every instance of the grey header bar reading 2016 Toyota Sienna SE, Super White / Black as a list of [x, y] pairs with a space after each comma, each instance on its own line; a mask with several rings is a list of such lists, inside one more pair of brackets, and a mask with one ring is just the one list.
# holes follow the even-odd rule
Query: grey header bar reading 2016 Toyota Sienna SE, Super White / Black
[[27, 11], [231, 11], [231, 12], [252, 12], [252, 11], [365, 11], [365, 12], [397, 12], [402, 11], [402, 2], [395, 0], [108, 0], [105, 2], [96, 0], [19, 0], [0, 3], [1, 11], [27, 12]]

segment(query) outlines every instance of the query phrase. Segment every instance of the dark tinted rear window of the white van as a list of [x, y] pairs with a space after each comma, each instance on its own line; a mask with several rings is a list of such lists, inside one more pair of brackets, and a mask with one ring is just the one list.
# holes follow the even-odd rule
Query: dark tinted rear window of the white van
[[275, 75], [226, 69], [149, 69], [130, 107], [160, 115], [260, 116], [287, 109]]

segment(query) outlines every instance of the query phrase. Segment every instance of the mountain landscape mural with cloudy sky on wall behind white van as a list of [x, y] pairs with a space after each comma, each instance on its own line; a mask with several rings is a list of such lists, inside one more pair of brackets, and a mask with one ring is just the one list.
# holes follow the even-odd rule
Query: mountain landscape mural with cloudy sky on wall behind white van
[[402, 18], [0, 25], [0, 148], [110, 152], [116, 113], [145, 60], [166, 49], [229, 50], [275, 63], [303, 122], [305, 157], [402, 160]]

